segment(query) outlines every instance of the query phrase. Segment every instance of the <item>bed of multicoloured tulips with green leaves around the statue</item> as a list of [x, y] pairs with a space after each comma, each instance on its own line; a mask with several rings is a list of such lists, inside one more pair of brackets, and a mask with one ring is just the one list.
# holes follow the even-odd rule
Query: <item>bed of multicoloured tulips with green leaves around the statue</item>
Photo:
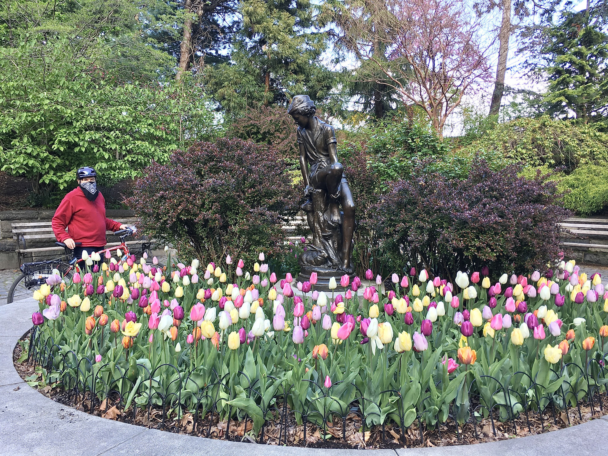
[[258, 442], [278, 423], [283, 444], [288, 424], [306, 442], [313, 429], [345, 438], [348, 422], [406, 443], [409, 430], [423, 440], [440, 425], [460, 437], [502, 423], [516, 435], [606, 399], [608, 292], [574, 261], [494, 282], [487, 268], [455, 283], [412, 269], [393, 274], [393, 291], [378, 277], [362, 296], [358, 277], [327, 293], [314, 274], [278, 279], [263, 254], [250, 272], [229, 257], [201, 271], [198, 260], [133, 261], [51, 275], [34, 293], [30, 358], [45, 384], [91, 410], [152, 411], [162, 426], [188, 416], [211, 437], [220, 422], [244, 423], [240, 435]]

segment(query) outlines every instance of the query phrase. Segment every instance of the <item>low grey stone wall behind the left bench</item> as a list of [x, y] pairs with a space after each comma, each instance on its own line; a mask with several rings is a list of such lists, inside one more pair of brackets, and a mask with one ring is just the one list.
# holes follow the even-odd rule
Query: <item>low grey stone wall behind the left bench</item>
[[[50, 221], [55, 209], [4, 210], [0, 211], [0, 269], [19, 269], [19, 259], [15, 249], [17, 241], [13, 239], [12, 223], [29, 223], [33, 221]], [[134, 217], [132, 210], [108, 209], [109, 218]], [[53, 246], [54, 241], [32, 241], [27, 247]], [[37, 260], [38, 258], [33, 258]], [[31, 261], [31, 260], [30, 260]]]

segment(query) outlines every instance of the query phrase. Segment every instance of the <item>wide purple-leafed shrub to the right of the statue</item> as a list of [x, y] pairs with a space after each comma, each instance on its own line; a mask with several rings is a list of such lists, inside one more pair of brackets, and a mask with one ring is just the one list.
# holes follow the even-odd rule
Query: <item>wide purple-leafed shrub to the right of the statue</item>
[[363, 223], [378, 231], [379, 255], [393, 271], [545, 270], [560, 259], [557, 223], [570, 212], [554, 182], [518, 178], [519, 169], [492, 171], [482, 161], [463, 180], [420, 171], [395, 182]]

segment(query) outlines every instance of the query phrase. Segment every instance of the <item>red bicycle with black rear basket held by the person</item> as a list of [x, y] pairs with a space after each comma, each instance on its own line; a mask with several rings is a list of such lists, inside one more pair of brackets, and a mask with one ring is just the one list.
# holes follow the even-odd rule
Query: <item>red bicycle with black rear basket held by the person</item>
[[[133, 254], [129, 250], [129, 247], [126, 245], [125, 239], [133, 233], [137, 232], [136, 227], [132, 226], [126, 228], [124, 230], [118, 230], [114, 232], [114, 235], [120, 235], [120, 244], [113, 247], [108, 247], [107, 249], [100, 250], [98, 253], [103, 258], [106, 255], [106, 252], [109, 252], [111, 255], [112, 252], [116, 252], [120, 250], [120, 260], [119, 263], [126, 261], [126, 259]], [[82, 243], [75, 243], [77, 246], [81, 246]], [[69, 249], [63, 242], [56, 242], [56, 246], [63, 247], [64, 255], [63, 257], [53, 258], [51, 260], [45, 261], [36, 261], [33, 263], [23, 263], [21, 265], [21, 275], [15, 279], [13, 284], [9, 288], [9, 296], [7, 297], [7, 304], [13, 302], [13, 298], [15, 297], [15, 290], [19, 286], [19, 283], [23, 282], [23, 285], [27, 289], [32, 289], [34, 287], [38, 287], [43, 283], [46, 283], [46, 279], [49, 275], [53, 274], [53, 271], [56, 269], [59, 271], [61, 278], [71, 279], [74, 272], [86, 271], [85, 261], [82, 258], [74, 258], [74, 251]], [[151, 242], [142, 242], [141, 249], [137, 250], [136, 253], [143, 255], [143, 252], [148, 252], [150, 250]], [[162, 266], [161, 266], [162, 267]]]

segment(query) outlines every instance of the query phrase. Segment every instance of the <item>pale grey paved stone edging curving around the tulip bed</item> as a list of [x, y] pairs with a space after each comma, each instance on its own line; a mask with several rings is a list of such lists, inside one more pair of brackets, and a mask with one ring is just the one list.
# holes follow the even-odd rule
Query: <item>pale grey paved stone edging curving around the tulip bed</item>
[[0, 307], [0, 448], [3, 454], [24, 455], [214, 455], [232, 456], [503, 456], [598, 455], [606, 451], [608, 416], [568, 429], [530, 437], [463, 446], [397, 450], [338, 450], [258, 445], [213, 440], [147, 429], [79, 412], [38, 393], [15, 371], [15, 344], [31, 327], [38, 309], [32, 299]]

